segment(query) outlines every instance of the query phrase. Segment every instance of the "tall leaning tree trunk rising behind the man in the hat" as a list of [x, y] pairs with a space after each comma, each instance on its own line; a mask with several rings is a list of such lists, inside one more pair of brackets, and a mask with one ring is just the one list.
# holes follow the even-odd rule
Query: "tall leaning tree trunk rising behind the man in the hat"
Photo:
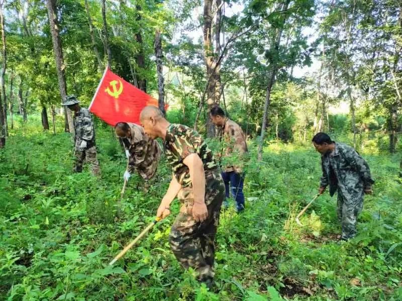
[[[46, 0], [46, 5], [49, 16], [50, 33], [52, 35], [54, 58], [56, 60], [57, 79], [59, 82], [61, 102], [63, 103], [67, 96], [67, 85], [65, 76], [65, 65], [63, 59], [63, 48], [61, 46], [59, 25], [57, 20], [56, 0]], [[71, 110], [69, 110], [67, 107], [64, 107], [64, 117], [65, 117], [64, 130], [66, 132], [69, 131], [72, 134], [74, 134], [72, 113]]]

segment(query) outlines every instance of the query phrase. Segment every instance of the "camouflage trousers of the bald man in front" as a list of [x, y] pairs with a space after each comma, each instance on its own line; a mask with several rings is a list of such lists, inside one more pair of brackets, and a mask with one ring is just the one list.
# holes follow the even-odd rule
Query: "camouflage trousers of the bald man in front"
[[169, 234], [170, 248], [180, 264], [192, 267], [198, 273], [199, 281], [209, 281], [214, 277], [215, 235], [217, 233], [221, 205], [225, 198], [225, 186], [218, 170], [206, 171], [205, 203], [208, 218], [195, 222], [187, 209], [192, 208], [194, 198], [192, 188], [182, 188], [177, 198], [181, 202]]

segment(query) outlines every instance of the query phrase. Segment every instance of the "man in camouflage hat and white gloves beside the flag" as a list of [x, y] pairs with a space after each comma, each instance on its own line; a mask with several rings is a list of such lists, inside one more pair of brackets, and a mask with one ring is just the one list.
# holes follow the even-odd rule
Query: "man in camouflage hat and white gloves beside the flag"
[[74, 95], [67, 96], [63, 105], [74, 111], [74, 172], [80, 173], [82, 171], [82, 164], [86, 160], [91, 164], [92, 174], [99, 175], [99, 163], [96, 159], [95, 131], [91, 113], [79, 106], [79, 101]]

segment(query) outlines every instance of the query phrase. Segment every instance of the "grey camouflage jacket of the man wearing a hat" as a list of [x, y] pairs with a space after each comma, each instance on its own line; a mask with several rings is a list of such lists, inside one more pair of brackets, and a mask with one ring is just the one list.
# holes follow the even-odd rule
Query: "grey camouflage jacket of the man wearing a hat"
[[75, 147], [78, 148], [82, 140], [86, 141], [86, 148], [95, 145], [95, 130], [93, 128], [92, 114], [88, 109], [80, 108], [74, 113]]

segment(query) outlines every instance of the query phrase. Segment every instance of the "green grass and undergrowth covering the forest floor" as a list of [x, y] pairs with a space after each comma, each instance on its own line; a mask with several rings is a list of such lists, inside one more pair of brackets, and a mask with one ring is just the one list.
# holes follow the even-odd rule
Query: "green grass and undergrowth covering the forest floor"
[[[60, 131], [61, 126], [58, 127]], [[113, 267], [109, 261], [152, 220], [170, 170], [162, 163], [145, 191], [130, 179], [116, 217], [125, 156], [110, 127], [97, 126], [102, 176], [72, 173], [67, 133], [17, 123], [0, 150], [0, 299], [7, 300], [400, 300], [402, 191], [396, 157], [363, 149], [373, 178], [358, 236], [337, 244], [336, 197], [317, 193], [319, 154], [273, 142], [251, 160], [246, 211], [222, 212], [216, 286], [183, 271], [167, 244], [173, 217], [158, 224]], [[368, 143], [367, 143], [368, 144]], [[175, 202], [173, 214], [178, 211]]]

